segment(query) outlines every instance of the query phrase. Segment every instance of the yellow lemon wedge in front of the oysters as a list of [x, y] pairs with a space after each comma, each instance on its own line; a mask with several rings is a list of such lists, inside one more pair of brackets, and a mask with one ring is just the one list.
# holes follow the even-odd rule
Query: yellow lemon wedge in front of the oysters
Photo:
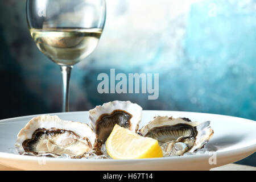
[[106, 140], [106, 150], [113, 159], [161, 158], [158, 140], [140, 135], [115, 125]]

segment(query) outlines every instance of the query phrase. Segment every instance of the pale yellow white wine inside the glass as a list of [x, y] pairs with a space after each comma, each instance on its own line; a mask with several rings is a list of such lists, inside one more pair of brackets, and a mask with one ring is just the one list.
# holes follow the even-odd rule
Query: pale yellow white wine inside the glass
[[98, 44], [102, 29], [30, 29], [36, 46], [59, 65], [74, 65], [90, 55]]

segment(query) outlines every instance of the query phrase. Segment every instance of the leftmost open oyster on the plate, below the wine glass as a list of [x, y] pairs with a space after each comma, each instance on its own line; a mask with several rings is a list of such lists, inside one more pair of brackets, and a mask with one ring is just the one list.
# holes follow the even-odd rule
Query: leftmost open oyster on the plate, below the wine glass
[[32, 118], [19, 131], [15, 147], [19, 154], [82, 158], [92, 150], [96, 135], [85, 123], [64, 121], [56, 115]]

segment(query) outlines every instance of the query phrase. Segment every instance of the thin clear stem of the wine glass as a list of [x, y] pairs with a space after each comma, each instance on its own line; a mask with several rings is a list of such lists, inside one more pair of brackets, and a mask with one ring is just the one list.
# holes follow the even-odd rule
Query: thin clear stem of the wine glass
[[63, 80], [63, 107], [62, 107], [63, 112], [69, 111], [69, 100], [68, 100], [69, 80], [70, 80], [72, 68], [73, 68], [72, 66], [60, 66], [62, 80]]

